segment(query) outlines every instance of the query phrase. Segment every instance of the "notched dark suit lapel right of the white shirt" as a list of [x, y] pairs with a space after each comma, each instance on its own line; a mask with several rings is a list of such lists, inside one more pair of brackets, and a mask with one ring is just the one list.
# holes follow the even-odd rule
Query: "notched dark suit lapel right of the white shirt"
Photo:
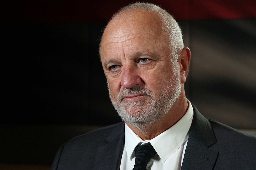
[[194, 117], [181, 170], [211, 170], [219, 152], [209, 149], [217, 142], [210, 122], [194, 108]]

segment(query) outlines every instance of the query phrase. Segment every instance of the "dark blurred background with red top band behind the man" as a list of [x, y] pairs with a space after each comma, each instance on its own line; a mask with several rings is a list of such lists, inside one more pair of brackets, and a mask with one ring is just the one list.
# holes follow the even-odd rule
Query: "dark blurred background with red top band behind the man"
[[[0, 169], [50, 169], [61, 144], [120, 122], [98, 55], [111, 15], [135, 1], [0, 1]], [[148, 0], [192, 51], [187, 98], [256, 135], [256, 1]]]

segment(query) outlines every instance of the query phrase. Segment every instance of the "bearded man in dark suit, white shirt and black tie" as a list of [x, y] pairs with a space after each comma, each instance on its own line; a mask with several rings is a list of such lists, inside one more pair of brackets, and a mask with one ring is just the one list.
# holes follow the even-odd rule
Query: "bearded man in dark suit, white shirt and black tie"
[[52, 169], [256, 169], [255, 137], [207, 120], [186, 99], [190, 51], [165, 10], [124, 7], [106, 26], [99, 52], [124, 122], [69, 140]]

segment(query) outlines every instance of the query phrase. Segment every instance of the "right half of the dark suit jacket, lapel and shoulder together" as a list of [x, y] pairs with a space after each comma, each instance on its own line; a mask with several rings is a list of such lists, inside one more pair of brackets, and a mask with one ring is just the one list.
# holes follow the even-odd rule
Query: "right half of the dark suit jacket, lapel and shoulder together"
[[213, 169], [255, 169], [256, 137], [206, 119], [192, 106], [194, 117], [184, 156], [184, 167], [200, 167], [202, 164], [198, 161], [198, 155], [202, 154], [212, 159]]

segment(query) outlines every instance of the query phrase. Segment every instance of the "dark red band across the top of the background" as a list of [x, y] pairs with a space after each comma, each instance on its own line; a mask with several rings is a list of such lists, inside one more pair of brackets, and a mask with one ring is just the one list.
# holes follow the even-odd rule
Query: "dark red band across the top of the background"
[[[10, 0], [0, 2], [2, 22], [106, 22], [134, 0]], [[151, 0], [177, 20], [256, 18], [256, 0]]]

